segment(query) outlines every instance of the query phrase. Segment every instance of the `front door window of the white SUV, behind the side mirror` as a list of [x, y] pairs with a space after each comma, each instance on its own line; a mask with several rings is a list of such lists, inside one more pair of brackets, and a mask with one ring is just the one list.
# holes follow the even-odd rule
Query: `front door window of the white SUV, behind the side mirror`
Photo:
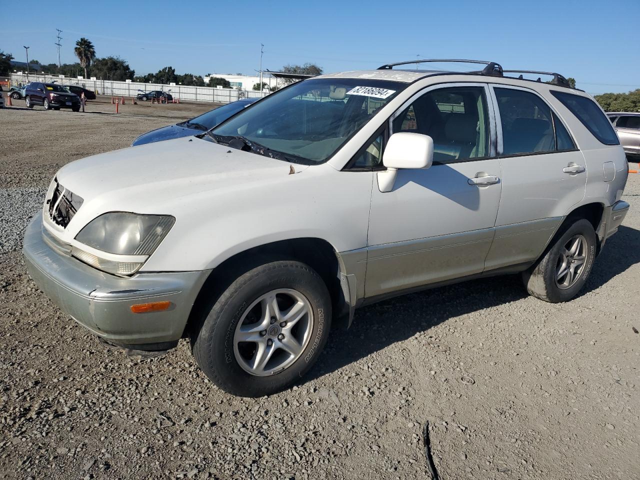
[[489, 156], [489, 120], [484, 88], [442, 88], [419, 97], [394, 120], [394, 132], [433, 138], [433, 159]]

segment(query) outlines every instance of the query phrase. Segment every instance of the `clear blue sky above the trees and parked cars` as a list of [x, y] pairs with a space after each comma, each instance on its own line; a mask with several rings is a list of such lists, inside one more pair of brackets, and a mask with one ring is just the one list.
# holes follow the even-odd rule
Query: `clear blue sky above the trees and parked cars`
[[[0, 9], [8, 4], [0, 0]], [[263, 43], [263, 67], [271, 70], [306, 61], [324, 72], [376, 68], [419, 55], [556, 71], [590, 93], [640, 88], [640, 0], [53, 4], [29, 3], [46, 22], [22, 15], [8, 22], [5, 15], [0, 49], [24, 61], [28, 45], [29, 58], [55, 62], [60, 28], [63, 63], [76, 61], [74, 43], [85, 36], [97, 56], [120, 56], [138, 74], [167, 65], [178, 73], [250, 74], [259, 68]]]

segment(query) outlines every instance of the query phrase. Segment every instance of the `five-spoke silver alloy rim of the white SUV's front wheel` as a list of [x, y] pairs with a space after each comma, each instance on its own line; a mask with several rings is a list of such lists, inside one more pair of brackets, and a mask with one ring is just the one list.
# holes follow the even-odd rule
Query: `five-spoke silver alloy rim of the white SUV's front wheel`
[[313, 331], [311, 303], [300, 292], [278, 289], [244, 311], [234, 333], [234, 354], [244, 371], [269, 376], [300, 358]]

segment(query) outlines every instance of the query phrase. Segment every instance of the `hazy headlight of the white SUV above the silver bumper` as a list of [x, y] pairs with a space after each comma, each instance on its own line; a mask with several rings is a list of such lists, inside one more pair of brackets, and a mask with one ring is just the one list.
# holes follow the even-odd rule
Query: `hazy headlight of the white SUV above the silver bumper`
[[72, 255], [100, 270], [131, 275], [140, 269], [168, 234], [175, 218], [109, 212], [90, 221], [76, 240], [88, 248], [72, 248]]

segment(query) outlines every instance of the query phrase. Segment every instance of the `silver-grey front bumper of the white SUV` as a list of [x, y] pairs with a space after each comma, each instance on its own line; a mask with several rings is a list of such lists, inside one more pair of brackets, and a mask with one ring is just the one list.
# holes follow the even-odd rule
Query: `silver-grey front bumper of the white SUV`
[[[29, 275], [58, 307], [95, 335], [138, 349], [182, 337], [196, 296], [211, 270], [109, 275], [58, 252], [42, 236], [36, 214], [24, 236]], [[163, 312], [134, 314], [131, 305], [170, 301]]]

